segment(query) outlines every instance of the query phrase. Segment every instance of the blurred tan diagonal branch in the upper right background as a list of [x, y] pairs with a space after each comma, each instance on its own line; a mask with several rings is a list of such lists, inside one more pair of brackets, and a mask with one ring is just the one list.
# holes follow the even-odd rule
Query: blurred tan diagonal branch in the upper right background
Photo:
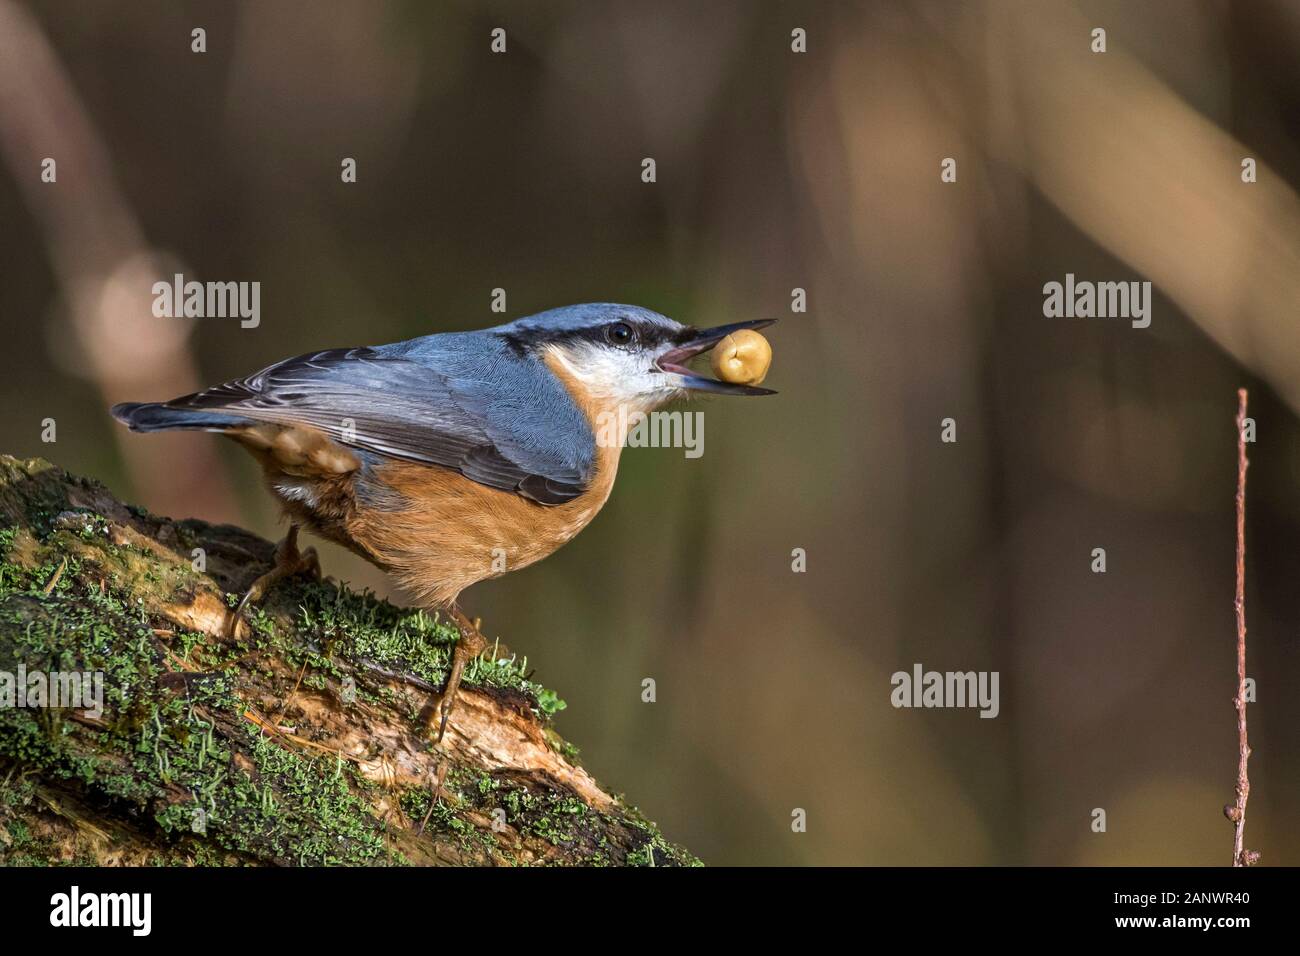
[[[1287, 317], [1300, 297], [1296, 190], [1119, 42], [1089, 52], [1079, 38], [1093, 23], [1080, 13], [987, 9], [989, 57], [1010, 70], [1019, 124], [1019, 137], [991, 143], [993, 157], [1300, 411], [1300, 339]], [[1257, 181], [1242, 178], [1247, 157]]]

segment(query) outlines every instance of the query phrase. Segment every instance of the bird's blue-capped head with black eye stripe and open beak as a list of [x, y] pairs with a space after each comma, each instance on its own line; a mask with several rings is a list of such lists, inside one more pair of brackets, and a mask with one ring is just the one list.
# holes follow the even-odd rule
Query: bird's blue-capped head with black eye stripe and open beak
[[692, 392], [775, 394], [754, 385], [718, 381], [686, 367], [732, 332], [760, 329], [774, 321], [755, 319], [697, 329], [646, 308], [602, 302], [540, 312], [503, 325], [498, 333], [516, 350], [559, 363], [593, 398], [649, 411]]

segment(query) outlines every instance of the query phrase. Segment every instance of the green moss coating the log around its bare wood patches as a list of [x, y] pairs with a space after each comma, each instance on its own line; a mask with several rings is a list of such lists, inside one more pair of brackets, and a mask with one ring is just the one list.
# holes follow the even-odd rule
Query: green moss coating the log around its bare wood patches
[[[134, 538], [103, 515], [70, 511], [70, 488], [103, 501], [91, 483], [0, 457], [0, 670], [22, 662], [29, 671], [99, 671], [105, 697], [98, 721], [0, 709], [0, 865], [95, 862], [77, 827], [42, 809], [38, 780], [105, 821], [125, 821], [122, 839], [159, 865], [403, 864], [407, 857], [389, 845], [394, 825], [416, 858], [432, 858], [433, 836], [439, 853], [459, 847], [468, 861], [698, 862], [636, 812], [620, 804], [593, 810], [545, 775], [456, 766], [434, 803], [428, 787], [390, 792], [351, 762], [311, 749], [309, 737], [264, 731], [246, 717], [263, 706], [250, 701], [285, 700], [299, 679], [329, 696], [354, 678], [359, 700], [411, 708], [411, 696], [395, 693], [377, 671], [441, 685], [456, 630], [436, 615], [302, 579], [277, 587], [238, 640], [178, 628], [160, 609], [188, 604], [200, 589], [212, 594], [214, 581], [246, 580], [243, 564], [231, 574], [226, 559], [224, 571], [196, 574], [185, 554], [213, 544], [213, 529], [199, 522], [165, 525], [169, 546], [181, 549], [174, 561], [122, 544]], [[225, 541], [230, 533], [222, 531]], [[234, 553], [243, 554], [246, 542], [233, 533]], [[464, 679], [512, 706], [526, 702], [541, 718], [564, 708], [532, 680], [526, 658], [489, 653]], [[543, 732], [576, 760], [576, 748]], [[382, 810], [393, 799], [406, 821]], [[508, 831], [484, 826], [494, 810], [506, 814]], [[65, 843], [49, 834], [64, 834]]]

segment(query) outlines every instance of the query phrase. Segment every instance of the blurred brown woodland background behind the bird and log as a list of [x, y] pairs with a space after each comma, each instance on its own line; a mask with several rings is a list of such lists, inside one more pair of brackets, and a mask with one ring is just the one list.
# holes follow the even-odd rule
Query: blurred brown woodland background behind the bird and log
[[[0, 0], [0, 450], [277, 537], [239, 449], [107, 407], [576, 302], [779, 316], [779, 397], [463, 597], [585, 765], [712, 864], [1226, 865], [1244, 385], [1247, 845], [1295, 864], [1297, 53], [1283, 0]], [[174, 272], [261, 324], [156, 319]], [[1045, 319], [1067, 272], [1150, 328]], [[1001, 714], [893, 709], [916, 662]]]

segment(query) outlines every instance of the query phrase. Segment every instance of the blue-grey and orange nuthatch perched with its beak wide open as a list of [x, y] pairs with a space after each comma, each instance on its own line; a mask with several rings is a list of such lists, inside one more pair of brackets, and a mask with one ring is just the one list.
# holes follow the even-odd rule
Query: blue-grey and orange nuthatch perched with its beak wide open
[[441, 743], [465, 665], [488, 646], [462, 592], [546, 558], [590, 523], [637, 414], [692, 393], [775, 394], [686, 365], [774, 321], [701, 329], [638, 306], [566, 306], [473, 332], [313, 351], [110, 414], [135, 432], [216, 432], [261, 464], [289, 529], [273, 568], [231, 611], [231, 630], [278, 581], [320, 576], [315, 548], [298, 546], [300, 528], [446, 613], [459, 636], [426, 710]]

